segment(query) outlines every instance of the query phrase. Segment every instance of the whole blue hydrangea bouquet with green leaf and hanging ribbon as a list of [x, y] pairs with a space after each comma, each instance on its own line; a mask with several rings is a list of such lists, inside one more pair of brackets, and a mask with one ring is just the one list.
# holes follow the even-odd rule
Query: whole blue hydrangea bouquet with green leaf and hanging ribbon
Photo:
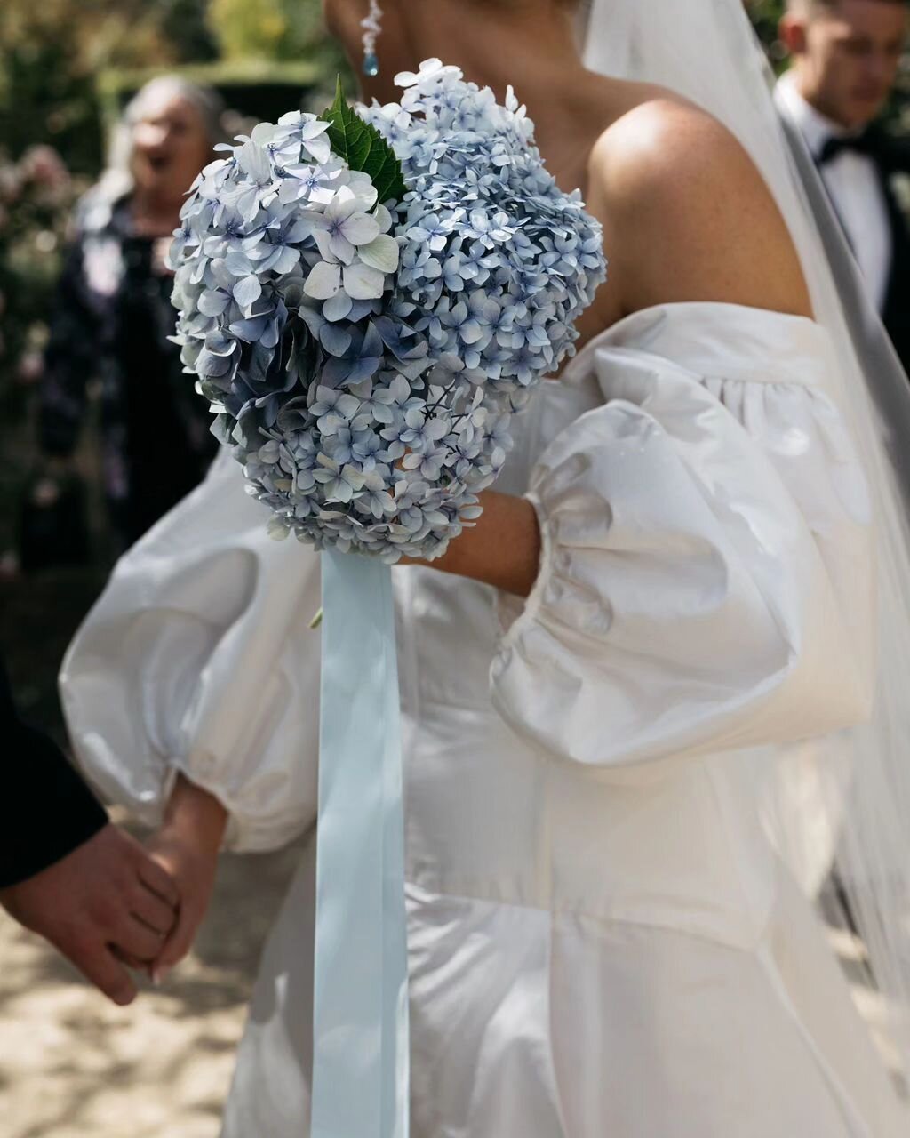
[[479, 516], [513, 413], [605, 277], [599, 226], [511, 89], [503, 106], [438, 59], [396, 83], [400, 102], [351, 109], [339, 83], [322, 116], [223, 147], [171, 251], [175, 339], [216, 434], [274, 536], [325, 551], [313, 1132], [345, 1138], [402, 1133], [406, 1112], [383, 562], [432, 560]]

